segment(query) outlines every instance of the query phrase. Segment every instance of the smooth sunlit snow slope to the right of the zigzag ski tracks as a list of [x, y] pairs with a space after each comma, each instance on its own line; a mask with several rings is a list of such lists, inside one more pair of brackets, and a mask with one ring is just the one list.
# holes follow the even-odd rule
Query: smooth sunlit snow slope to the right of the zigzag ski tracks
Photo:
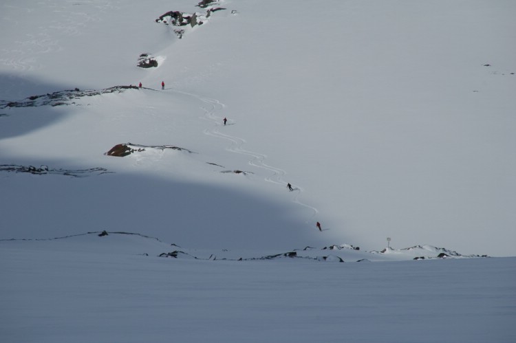
[[[224, 102], [246, 146], [303, 188], [317, 219], [361, 246], [391, 236], [396, 247], [514, 254], [514, 3], [237, 8], [182, 42], [202, 47], [204, 67], [197, 79], [178, 67], [178, 82]], [[486, 245], [488, 232], [504, 239]]]

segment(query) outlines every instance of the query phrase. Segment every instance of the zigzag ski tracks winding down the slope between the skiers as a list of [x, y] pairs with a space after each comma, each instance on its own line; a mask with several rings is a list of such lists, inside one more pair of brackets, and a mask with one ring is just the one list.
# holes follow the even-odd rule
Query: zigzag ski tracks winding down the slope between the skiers
[[[287, 174], [286, 171], [281, 168], [276, 168], [274, 166], [270, 166], [270, 165], [266, 164], [265, 160], [267, 158], [267, 155], [264, 155], [262, 153], [256, 153], [254, 151], [248, 151], [248, 150], [242, 148], [242, 146], [246, 143], [246, 140], [244, 140], [243, 138], [235, 137], [233, 135], [228, 135], [226, 133], [222, 133], [219, 131], [219, 127], [224, 126], [224, 124], [222, 124], [223, 117], [217, 116], [215, 113], [217, 111], [224, 109], [226, 107], [225, 104], [223, 104], [219, 100], [205, 98], [202, 96], [198, 96], [197, 94], [186, 93], [184, 91], [178, 91], [178, 90], [174, 90], [174, 91], [176, 93], [182, 93], [187, 96], [193, 96], [194, 98], [197, 98], [198, 100], [207, 104], [207, 106], [201, 107], [201, 109], [204, 111], [204, 115], [201, 117], [201, 119], [208, 120], [209, 122], [212, 122], [213, 125], [208, 127], [208, 129], [204, 129], [203, 133], [205, 135], [209, 135], [211, 137], [217, 137], [217, 138], [221, 138], [221, 139], [230, 141], [231, 144], [230, 144], [230, 146], [228, 146], [228, 148], [226, 148], [227, 151], [230, 151], [232, 153], [239, 153], [242, 155], [250, 156], [251, 159], [248, 162], [248, 164], [250, 166], [254, 166], [256, 168], [262, 168], [262, 169], [268, 170], [271, 173], [268, 177], [265, 177], [265, 181], [271, 182], [272, 184], [277, 184], [284, 188], [287, 187], [287, 182], [283, 181], [283, 177]], [[228, 122], [230, 122], [230, 121], [228, 121]], [[230, 124], [233, 124], [233, 123], [230, 122]], [[300, 186], [295, 186], [295, 185], [292, 185], [292, 186], [294, 187], [293, 192], [295, 194], [292, 202], [297, 203], [299, 206], [303, 206], [304, 208], [310, 209], [313, 212], [310, 219], [315, 217], [316, 214], [319, 213], [319, 210], [317, 210], [313, 206], [310, 206], [299, 200], [299, 198], [301, 197], [301, 193], [304, 191], [303, 188]], [[305, 221], [305, 223], [310, 223], [310, 219]]]

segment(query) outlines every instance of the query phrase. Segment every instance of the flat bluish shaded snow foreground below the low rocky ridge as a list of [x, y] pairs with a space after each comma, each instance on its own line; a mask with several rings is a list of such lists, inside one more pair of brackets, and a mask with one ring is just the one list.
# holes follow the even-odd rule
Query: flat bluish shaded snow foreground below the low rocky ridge
[[[188, 255], [160, 257], [173, 250]], [[246, 252], [184, 250], [109, 232], [1, 241], [2, 341], [508, 343], [516, 337], [516, 258], [329, 263], [214, 261], [208, 254]], [[341, 256], [353, 261], [365, 254], [347, 249]]]

